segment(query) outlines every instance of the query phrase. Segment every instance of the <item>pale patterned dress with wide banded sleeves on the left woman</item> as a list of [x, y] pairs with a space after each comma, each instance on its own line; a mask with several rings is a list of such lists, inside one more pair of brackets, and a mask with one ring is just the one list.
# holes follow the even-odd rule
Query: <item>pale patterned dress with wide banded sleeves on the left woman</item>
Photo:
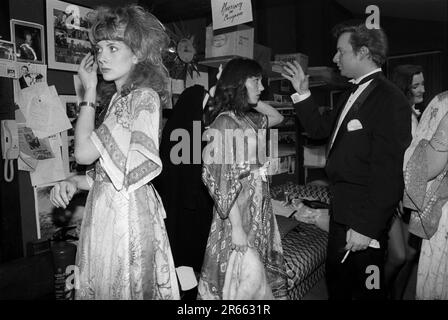
[[[179, 299], [157, 192], [159, 98], [115, 97], [91, 135], [100, 152], [81, 227], [76, 299]], [[92, 177], [92, 176], [91, 176]]]

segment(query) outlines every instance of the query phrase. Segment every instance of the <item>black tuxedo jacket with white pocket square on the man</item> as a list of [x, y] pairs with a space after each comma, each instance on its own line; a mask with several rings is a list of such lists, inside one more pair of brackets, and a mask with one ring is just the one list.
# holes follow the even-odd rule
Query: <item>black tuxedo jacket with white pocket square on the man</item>
[[[379, 239], [403, 196], [403, 156], [412, 138], [411, 108], [406, 97], [383, 76], [374, 81], [377, 86], [364, 103], [347, 113], [325, 169], [333, 219]], [[312, 97], [295, 104], [306, 132], [316, 139], [329, 137], [349, 95], [343, 94], [338, 105], [323, 115]], [[348, 130], [353, 119], [362, 129]]]

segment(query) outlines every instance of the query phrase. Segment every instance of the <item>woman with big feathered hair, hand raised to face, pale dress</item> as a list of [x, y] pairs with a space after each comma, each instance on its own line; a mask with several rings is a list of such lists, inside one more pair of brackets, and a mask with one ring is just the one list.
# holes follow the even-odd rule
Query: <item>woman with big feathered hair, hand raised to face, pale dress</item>
[[[88, 53], [78, 71], [85, 94], [75, 158], [80, 164], [95, 162], [95, 168], [51, 192], [52, 202], [65, 207], [77, 189], [90, 189], [76, 256], [75, 297], [179, 299], [165, 211], [150, 184], [162, 170], [165, 28], [139, 6], [102, 7], [94, 13], [91, 41], [96, 57]], [[97, 69], [115, 83], [116, 93], [95, 129]]]

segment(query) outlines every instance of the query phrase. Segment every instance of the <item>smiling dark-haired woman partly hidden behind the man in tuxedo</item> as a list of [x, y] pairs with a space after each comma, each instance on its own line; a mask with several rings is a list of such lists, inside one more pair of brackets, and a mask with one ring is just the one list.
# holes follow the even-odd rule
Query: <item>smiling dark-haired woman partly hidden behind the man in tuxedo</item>
[[[399, 65], [392, 73], [392, 81], [408, 98], [412, 110], [411, 133], [414, 137], [420, 116], [420, 111], [416, 109], [415, 105], [423, 102], [425, 93], [423, 69], [418, 65]], [[404, 168], [406, 162], [404, 162]], [[410, 215], [410, 210], [400, 205], [389, 230], [385, 281], [390, 298], [393, 300], [403, 299], [420, 249], [419, 239], [410, 235], [408, 231]]]

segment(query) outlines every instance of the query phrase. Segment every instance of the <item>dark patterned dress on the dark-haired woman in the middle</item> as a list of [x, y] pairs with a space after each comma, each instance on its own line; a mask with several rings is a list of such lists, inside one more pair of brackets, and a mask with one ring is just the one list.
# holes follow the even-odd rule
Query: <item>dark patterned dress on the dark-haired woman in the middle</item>
[[[258, 113], [239, 118], [230, 112], [221, 113], [210, 126], [222, 134], [222, 144], [219, 144], [222, 154], [220, 164], [208, 164], [209, 155], [204, 151], [202, 178], [215, 207], [198, 286], [200, 299], [217, 300], [223, 297], [225, 274], [232, 252], [232, 226], [228, 215], [235, 203], [239, 207], [249, 246], [256, 249], [260, 257], [274, 297], [285, 299], [287, 296], [280, 234], [272, 211], [269, 184], [263, 172], [263, 161], [266, 159], [251, 160], [256, 157], [257, 143], [249, 138], [246, 144], [248, 159], [241, 163], [224, 163], [226, 156], [235, 159], [238, 153], [229, 144], [230, 138], [224, 137], [226, 129], [257, 132], [266, 126], [266, 117]], [[261, 148], [258, 155], [263, 154], [263, 146], [265, 143], [258, 143], [258, 148]]]

